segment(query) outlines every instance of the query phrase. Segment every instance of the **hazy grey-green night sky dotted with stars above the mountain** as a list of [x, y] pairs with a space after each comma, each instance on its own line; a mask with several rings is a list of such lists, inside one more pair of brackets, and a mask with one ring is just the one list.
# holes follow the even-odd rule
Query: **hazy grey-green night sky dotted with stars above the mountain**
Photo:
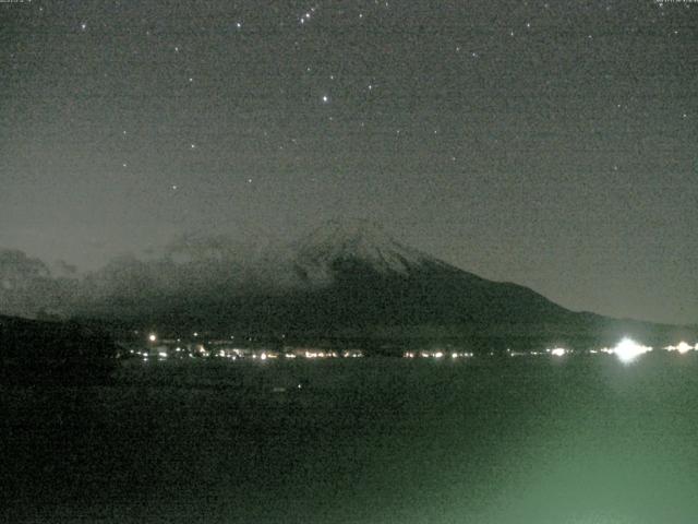
[[698, 2], [4, 1], [0, 247], [383, 224], [571, 309], [698, 322]]

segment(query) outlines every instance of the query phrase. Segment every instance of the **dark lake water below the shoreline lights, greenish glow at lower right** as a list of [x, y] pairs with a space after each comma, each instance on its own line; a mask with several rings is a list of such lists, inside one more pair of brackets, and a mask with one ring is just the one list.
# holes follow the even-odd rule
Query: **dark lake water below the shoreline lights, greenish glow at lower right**
[[7, 522], [698, 519], [698, 355], [133, 362], [0, 393]]

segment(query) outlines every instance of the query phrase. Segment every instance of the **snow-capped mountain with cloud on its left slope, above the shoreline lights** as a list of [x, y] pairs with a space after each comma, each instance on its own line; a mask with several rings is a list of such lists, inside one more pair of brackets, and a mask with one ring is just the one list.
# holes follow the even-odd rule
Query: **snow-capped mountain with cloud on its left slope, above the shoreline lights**
[[553, 333], [554, 342], [558, 334], [610, 332], [614, 322], [567, 310], [524, 286], [481, 278], [366, 221], [330, 221], [281, 249], [194, 240], [159, 258], [115, 260], [74, 281], [77, 298], [63, 303], [83, 319], [178, 332], [330, 338], [436, 331], [507, 341]]

